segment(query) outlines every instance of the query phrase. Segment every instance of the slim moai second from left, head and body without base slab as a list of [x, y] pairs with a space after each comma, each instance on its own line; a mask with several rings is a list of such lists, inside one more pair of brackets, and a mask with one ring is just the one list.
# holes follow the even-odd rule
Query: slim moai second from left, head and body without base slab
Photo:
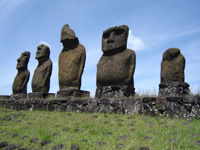
[[32, 91], [48, 93], [50, 88], [50, 77], [52, 73], [52, 61], [49, 59], [50, 49], [41, 44], [37, 47], [36, 57], [38, 66], [34, 71], [32, 79]]

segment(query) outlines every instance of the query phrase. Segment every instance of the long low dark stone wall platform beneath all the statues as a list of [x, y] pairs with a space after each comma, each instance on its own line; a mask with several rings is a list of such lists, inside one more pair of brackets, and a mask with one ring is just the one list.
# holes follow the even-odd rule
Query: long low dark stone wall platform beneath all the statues
[[65, 98], [54, 100], [1, 99], [0, 107], [15, 110], [148, 114], [159, 117], [200, 119], [200, 96], [118, 99]]

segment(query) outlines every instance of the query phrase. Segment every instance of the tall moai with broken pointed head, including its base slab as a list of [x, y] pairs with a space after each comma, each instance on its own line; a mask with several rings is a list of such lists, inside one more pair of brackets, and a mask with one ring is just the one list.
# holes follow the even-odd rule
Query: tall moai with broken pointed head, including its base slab
[[80, 90], [86, 58], [85, 47], [79, 43], [68, 24], [62, 28], [60, 42], [63, 49], [58, 62], [60, 91], [57, 96], [89, 96], [89, 92]]

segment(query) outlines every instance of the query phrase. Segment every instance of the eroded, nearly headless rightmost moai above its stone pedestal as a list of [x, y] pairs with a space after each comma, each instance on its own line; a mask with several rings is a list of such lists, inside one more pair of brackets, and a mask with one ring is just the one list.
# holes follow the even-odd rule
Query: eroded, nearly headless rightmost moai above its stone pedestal
[[184, 82], [185, 58], [178, 48], [169, 48], [163, 54], [161, 63], [162, 82]]

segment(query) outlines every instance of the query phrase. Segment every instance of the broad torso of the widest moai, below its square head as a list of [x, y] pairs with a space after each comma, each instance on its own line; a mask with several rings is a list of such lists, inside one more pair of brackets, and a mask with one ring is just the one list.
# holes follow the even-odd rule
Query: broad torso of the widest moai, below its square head
[[[129, 78], [134, 51], [125, 50], [112, 56], [102, 56], [97, 64], [97, 85], [124, 85]], [[131, 81], [130, 81], [131, 82]]]

